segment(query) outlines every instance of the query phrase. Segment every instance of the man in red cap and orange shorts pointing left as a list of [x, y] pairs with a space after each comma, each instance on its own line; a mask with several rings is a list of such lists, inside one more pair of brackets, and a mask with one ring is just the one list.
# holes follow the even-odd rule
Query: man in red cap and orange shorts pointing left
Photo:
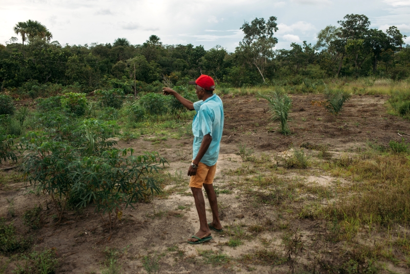
[[[212, 183], [222, 138], [223, 106], [219, 96], [213, 94], [215, 82], [211, 76], [201, 75], [196, 81], [191, 81], [189, 84], [195, 85], [198, 102], [192, 103], [171, 88], [162, 88], [162, 91], [165, 95], [175, 96], [183, 106], [197, 112], [192, 122], [192, 132], [194, 134], [193, 160], [188, 168], [188, 176], [191, 176], [189, 186], [194, 195], [200, 228], [188, 240], [188, 243], [200, 244], [212, 239], [210, 229], [218, 232], [222, 231], [222, 225], [219, 222], [218, 203]], [[207, 192], [212, 209], [213, 220], [211, 223], [207, 223], [202, 186]]]

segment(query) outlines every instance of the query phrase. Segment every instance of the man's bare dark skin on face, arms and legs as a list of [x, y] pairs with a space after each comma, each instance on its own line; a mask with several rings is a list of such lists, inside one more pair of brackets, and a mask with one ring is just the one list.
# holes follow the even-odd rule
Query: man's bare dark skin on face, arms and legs
[[[175, 98], [181, 102], [183, 106], [185, 106], [189, 110], [194, 110], [194, 103], [185, 99], [181, 95], [179, 95], [175, 90], [171, 88], [164, 87], [162, 88], [162, 92], [164, 95], [173, 95]], [[213, 94], [208, 93], [204, 88], [201, 88], [198, 85], [195, 85], [195, 93], [199, 100], [207, 100]], [[210, 144], [212, 142], [212, 136], [210, 134], [204, 135], [202, 139], [201, 146], [199, 147], [198, 154], [196, 155], [195, 159], [192, 161], [193, 164], [198, 165], [201, 161], [203, 155], [207, 152]], [[188, 168], [188, 176], [196, 175], [197, 168], [193, 168], [191, 165]], [[214, 190], [214, 186], [212, 184], [203, 184], [203, 188], [207, 192], [208, 201], [212, 209], [212, 223], [211, 225], [216, 229], [222, 229], [222, 225], [219, 221], [219, 214], [218, 214], [218, 203], [216, 200], [216, 193]], [[202, 239], [204, 237], [208, 237], [211, 235], [211, 231], [209, 230], [208, 223], [207, 223], [207, 214], [205, 210], [205, 200], [203, 199], [202, 189], [191, 187], [192, 194], [195, 200], [196, 210], [198, 212], [199, 217], [199, 231], [196, 232], [195, 236]], [[190, 242], [198, 241], [195, 238], [190, 238]]]

